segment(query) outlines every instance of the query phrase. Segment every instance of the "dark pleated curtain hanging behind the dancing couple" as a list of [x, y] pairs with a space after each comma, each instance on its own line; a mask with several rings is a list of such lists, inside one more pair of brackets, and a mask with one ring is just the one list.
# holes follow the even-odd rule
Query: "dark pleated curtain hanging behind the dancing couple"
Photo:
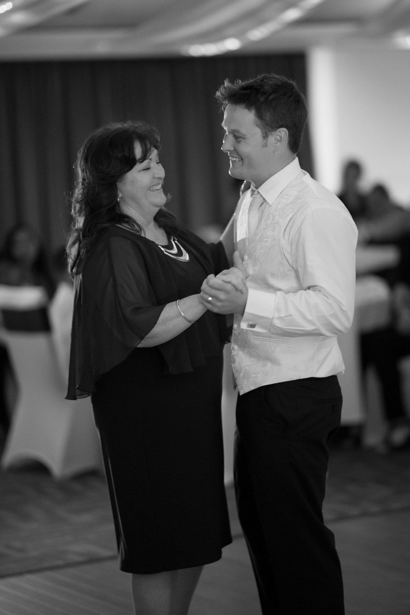
[[[290, 77], [306, 92], [302, 54], [250, 57], [0, 63], [1, 237], [31, 224], [50, 250], [69, 228], [73, 164], [89, 133], [143, 119], [159, 129], [170, 208], [192, 230], [224, 225], [238, 198], [221, 152], [223, 115], [214, 97], [224, 79]], [[309, 132], [299, 154], [312, 173]]]

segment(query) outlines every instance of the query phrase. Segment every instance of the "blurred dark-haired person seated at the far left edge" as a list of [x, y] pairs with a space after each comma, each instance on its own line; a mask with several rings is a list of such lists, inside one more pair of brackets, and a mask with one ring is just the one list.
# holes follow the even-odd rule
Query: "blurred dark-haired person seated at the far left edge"
[[[15, 287], [42, 287], [50, 299], [55, 284], [39, 237], [30, 226], [16, 224], [7, 234], [0, 253], [0, 284]], [[45, 308], [2, 309], [2, 323], [12, 331], [47, 331]]]

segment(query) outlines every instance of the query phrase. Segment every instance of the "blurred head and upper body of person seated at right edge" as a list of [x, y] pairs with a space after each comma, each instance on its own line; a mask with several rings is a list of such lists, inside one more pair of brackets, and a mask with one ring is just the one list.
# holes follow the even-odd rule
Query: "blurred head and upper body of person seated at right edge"
[[410, 210], [395, 204], [382, 184], [373, 186], [367, 197], [366, 217], [357, 222], [361, 244], [395, 244], [400, 262], [394, 269], [377, 272], [393, 287], [410, 283]]

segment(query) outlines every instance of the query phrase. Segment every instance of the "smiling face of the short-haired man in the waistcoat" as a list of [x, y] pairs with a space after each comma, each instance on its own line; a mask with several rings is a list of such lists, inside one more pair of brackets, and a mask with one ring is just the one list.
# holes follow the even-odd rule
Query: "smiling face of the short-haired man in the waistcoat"
[[272, 135], [264, 139], [255, 123], [253, 111], [237, 105], [227, 105], [222, 122], [225, 136], [222, 146], [229, 156], [229, 175], [253, 181], [256, 188], [274, 174]]

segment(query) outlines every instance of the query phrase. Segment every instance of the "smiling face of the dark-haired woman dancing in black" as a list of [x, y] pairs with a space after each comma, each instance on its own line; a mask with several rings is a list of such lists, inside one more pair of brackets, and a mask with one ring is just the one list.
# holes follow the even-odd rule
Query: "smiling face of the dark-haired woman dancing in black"
[[[135, 156], [141, 157], [140, 143], [135, 143]], [[142, 215], [152, 213], [160, 209], [167, 202], [167, 197], [162, 191], [165, 172], [159, 162], [158, 152], [152, 149], [149, 157], [143, 162], [137, 162], [135, 167], [125, 173], [124, 177], [117, 182], [120, 202], [132, 207]]]

